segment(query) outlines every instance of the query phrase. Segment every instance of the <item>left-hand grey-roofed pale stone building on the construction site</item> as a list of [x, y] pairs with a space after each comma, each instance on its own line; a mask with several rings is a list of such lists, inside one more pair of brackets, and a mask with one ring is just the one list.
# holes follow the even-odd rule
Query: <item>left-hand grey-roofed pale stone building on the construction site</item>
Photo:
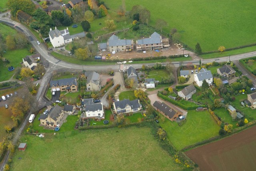
[[133, 40], [119, 39], [118, 36], [112, 35], [108, 42], [98, 44], [98, 48], [101, 51], [108, 50], [109, 52], [121, 52], [121, 51], [132, 51]]

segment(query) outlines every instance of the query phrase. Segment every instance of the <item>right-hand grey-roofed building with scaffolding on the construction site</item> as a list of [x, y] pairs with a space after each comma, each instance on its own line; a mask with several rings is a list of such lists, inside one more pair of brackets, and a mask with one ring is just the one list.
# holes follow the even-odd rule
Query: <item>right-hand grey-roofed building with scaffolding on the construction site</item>
[[137, 52], [162, 49], [169, 46], [168, 38], [162, 38], [162, 36], [156, 32], [151, 34], [149, 38], [143, 38], [136, 41]]

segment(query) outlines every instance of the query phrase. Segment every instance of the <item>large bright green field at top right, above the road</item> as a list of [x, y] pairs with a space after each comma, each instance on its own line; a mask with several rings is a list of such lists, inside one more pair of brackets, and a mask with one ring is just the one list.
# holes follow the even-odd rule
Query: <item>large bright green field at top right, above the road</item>
[[194, 48], [197, 42], [203, 52], [218, 50], [219, 46], [231, 48], [255, 43], [254, 0], [246, 3], [232, 0], [162, 0], [161, 3], [154, 0], [111, 0], [106, 4], [110, 9], [118, 10], [122, 2], [125, 2], [126, 11], [134, 5], [150, 10], [152, 26], [156, 25], [158, 18], [165, 19], [168, 27], [163, 29], [164, 32], [176, 28], [180, 40], [190, 48]]

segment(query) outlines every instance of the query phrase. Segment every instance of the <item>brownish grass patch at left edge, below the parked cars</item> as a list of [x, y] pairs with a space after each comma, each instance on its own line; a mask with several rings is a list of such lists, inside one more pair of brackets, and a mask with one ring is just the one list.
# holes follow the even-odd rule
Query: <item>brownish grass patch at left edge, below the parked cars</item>
[[[5, 103], [5, 102], [0, 102], [0, 103]], [[2, 138], [7, 135], [4, 129], [4, 126], [13, 125], [13, 121], [11, 119], [12, 112], [10, 109], [10, 105], [8, 109], [6, 109], [4, 106], [0, 107], [0, 111], [1, 111], [0, 112], [0, 142], [1, 142]]]

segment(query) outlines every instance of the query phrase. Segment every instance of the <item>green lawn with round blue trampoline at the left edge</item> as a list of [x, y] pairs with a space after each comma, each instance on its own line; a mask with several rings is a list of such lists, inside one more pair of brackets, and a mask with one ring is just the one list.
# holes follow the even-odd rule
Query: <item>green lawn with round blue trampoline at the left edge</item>
[[[9, 50], [3, 57], [10, 61], [10, 64], [0, 64], [0, 82], [9, 80], [21, 68], [22, 58], [30, 55], [27, 49]], [[14, 71], [8, 71], [8, 66], [13, 66]]]

